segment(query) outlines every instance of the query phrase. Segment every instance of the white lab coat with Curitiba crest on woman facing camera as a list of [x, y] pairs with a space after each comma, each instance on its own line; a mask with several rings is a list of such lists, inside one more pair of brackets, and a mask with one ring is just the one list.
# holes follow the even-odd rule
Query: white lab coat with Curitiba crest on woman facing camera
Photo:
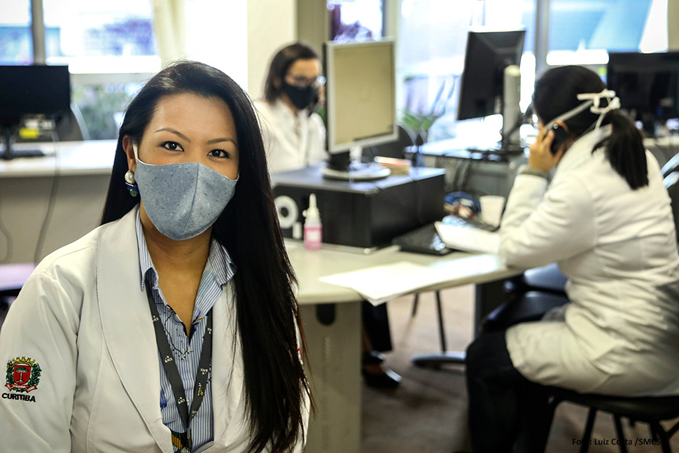
[[[34, 402], [0, 398], [3, 452], [174, 452], [160, 414], [151, 311], [139, 284], [137, 209], [50, 254], [13, 303], [0, 361], [28, 357], [42, 371], [27, 393]], [[201, 452], [244, 452], [248, 445], [233, 294], [225, 286], [213, 309], [214, 442]]]

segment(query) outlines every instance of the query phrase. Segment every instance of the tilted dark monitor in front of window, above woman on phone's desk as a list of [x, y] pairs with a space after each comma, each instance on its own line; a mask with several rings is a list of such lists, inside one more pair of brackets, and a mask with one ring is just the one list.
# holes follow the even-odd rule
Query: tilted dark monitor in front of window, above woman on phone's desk
[[498, 113], [503, 113], [503, 117], [512, 116], [503, 118], [503, 147], [507, 146], [507, 134], [518, 128], [516, 123], [520, 118], [519, 75], [514, 76], [514, 87], [505, 90], [505, 69], [519, 66], [525, 35], [525, 30], [471, 30], [467, 36], [457, 119], [482, 118]]

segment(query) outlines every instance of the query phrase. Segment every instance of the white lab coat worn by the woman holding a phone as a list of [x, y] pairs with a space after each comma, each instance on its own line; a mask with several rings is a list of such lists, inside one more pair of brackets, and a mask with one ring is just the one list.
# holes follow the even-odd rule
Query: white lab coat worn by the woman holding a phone
[[584, 135], [554, 179], [520, 174], [507, 199], [507, 265], [556, 261], [572, 303], [554, 321], [506, 333], [512, 363], [533, 382], [584, 393], [679, 394], [679, 257], [667, 192], [646, 153], [649, 185], [631, 190]]

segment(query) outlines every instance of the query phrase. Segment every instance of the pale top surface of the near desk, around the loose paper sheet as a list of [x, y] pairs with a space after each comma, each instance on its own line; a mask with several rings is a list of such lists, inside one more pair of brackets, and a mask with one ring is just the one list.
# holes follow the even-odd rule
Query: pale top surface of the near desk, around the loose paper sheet
[[520, 274], [521, 271], [509, 269], [495, 255], [477, 255], [453, 252], [446, 256], [423, 255], [385, 249], [368, 255], [321, 249], [309, 251], [301, 242], [286, 239], [290, 262], [300, 284], [297, 301], [300, 305], [330, 302], [357, 302], [363, 300], [356, 291], [319, 281], [321, 277], [349, 272], [365, 267], [386, 265], [399, 261], [425, 265], [433, 269], [445, 270], [450, 279], [435, 286], [418, 291], [432, 291], [465, 284], [482, 284]]

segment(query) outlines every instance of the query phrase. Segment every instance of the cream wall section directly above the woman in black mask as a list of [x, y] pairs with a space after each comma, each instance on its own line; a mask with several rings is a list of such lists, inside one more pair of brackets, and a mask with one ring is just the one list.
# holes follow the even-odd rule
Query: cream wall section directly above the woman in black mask
[[247, 1], [247, 90], [264, 92], [264, 79], [276, 50], [297, 39], [297, 0]]

